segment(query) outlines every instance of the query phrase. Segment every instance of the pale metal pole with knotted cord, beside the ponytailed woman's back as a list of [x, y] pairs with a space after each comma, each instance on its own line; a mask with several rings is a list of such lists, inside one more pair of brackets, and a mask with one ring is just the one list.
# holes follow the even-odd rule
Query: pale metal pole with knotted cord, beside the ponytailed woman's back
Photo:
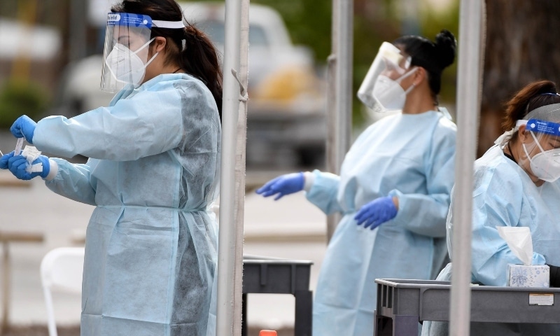
[[222, 161], [220, 183], [220, 231], [218, 235], [218, 297], [216, 335], [232, 335], [235, 276], [235, 147], [239, 118], [239, 83], [232, 69], [239, 69], [241, 0], [225, 1], [223, 62]]

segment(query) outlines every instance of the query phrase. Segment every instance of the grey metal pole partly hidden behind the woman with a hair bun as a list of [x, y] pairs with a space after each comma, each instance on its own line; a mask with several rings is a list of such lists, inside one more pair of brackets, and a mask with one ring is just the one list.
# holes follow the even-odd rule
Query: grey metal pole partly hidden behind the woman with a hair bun
[[[350, 148], [352, 125], [353, 0], [332, 1], [332, 51], [328, 71], [327, 169], [340, 173]], [[328, 216], [327, 239], [335, 232], [340, 215]]]

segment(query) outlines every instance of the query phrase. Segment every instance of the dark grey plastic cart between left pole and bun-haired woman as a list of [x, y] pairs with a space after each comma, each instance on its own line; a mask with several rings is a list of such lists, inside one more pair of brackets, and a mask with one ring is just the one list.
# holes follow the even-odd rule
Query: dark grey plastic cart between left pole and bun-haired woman
[[313, 292], [309, 290], [312, 261], [243, 256], [241, 335], [247, 335], [247, 294], [291, 294], [295, 297], [294, 336], [311, 336]]

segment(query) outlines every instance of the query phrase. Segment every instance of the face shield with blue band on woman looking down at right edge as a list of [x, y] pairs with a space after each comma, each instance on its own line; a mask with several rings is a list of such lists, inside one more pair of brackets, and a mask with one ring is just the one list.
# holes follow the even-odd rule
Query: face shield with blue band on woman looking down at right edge
[[560, 178], [560, 123], [543, 120], [549, 119], [545, 116], [541, 116], [545, 117], [543, 119], [534, 118], [542, 112], [556, 112], [556, 118], [553, 120], [560, 120], [560, 104], [553, 104], [531, 111], [528, 116], [533, 117], [529, 120], [518, 120], [517, 127], [526, 125], [525, 132], [530, 134], [522, 148], [533, 175], [542, 181], [554, 182]]

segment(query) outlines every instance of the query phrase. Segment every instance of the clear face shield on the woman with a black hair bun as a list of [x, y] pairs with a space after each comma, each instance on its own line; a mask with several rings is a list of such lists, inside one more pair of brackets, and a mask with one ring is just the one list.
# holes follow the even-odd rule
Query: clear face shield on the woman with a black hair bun
[[396, 73], [402, 76], [410, 67], [412, 57], [402, 55], [400, 49], [395, 45], [381, 43], [377, 55], [373, 59], [370, 69], [367, 71], [363, 82], [358, 89], [358, 98], [365, 106], [374, 109], [377, 104], [373, 97], [373, 88], [380, 74]]

